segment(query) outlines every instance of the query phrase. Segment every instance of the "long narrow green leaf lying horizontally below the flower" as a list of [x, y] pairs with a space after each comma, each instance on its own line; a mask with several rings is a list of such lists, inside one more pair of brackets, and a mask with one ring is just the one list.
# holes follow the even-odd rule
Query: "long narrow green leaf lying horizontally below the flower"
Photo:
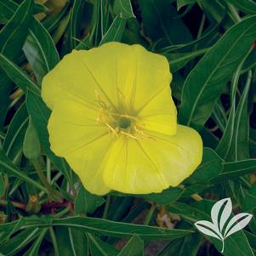
[[[20, 221], [20, 229], [47, 227], [47, 226], [66, 226], [77, 228], [99, 234], [100, 236], [113, 237], [131, 237], [139, 236], [141, 239], [148, 240], [169, 240], [191, 234], [191, 230], [164, 229], [159, 227], [151, 227], [148, 225], [134, 225], [122, 222], [111, 221], [107, 219], [89, 218], [89, 217], [68, 217], [62, 219], [48, 218], [22, 218]], [[0, 225], [1, 230], [12, 230], [18, 221], [9, 223], [8, 226]]]

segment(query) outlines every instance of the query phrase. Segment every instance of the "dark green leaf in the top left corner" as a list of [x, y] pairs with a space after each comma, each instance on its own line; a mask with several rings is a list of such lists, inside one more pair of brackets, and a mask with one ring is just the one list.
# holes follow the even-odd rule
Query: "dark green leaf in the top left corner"
[[32, 0], [25, 0], [20, 4], [13, 17], [0, 31], [0, 51], [13, 59], [20, 52], [31, 24], [33, 13]]

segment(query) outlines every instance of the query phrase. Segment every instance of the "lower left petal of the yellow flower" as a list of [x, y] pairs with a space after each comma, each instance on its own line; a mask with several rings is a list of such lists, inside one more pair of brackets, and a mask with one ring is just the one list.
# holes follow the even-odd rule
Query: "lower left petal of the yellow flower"
[[51, 149], [65, 157], [88, 191], [103, 195], [110, 191], [101, 169], [112, 137], [96, 117], [97, 112], [82, 103], [60, 100], [49, 118], [48, 132]]

